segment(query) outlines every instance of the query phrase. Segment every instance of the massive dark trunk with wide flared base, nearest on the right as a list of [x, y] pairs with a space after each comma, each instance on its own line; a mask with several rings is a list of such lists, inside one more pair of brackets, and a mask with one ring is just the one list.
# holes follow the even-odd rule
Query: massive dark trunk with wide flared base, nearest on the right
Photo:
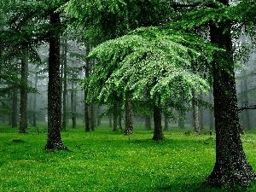
[[[226, 5], [229, 3], [228, 0], [218, 2]], [[212, 63], [216, 161], [207, 182], [221, 186], [247, 185], [255, 179], [255, 173], [247, 161], [238, 132], [236, 82], [229, 28], [230, 24], [227, 22], [219, 22], [218, 26], [210, 25], [212, 43], [227, 50], [227, 53], [215, 56], [218, 60]]]

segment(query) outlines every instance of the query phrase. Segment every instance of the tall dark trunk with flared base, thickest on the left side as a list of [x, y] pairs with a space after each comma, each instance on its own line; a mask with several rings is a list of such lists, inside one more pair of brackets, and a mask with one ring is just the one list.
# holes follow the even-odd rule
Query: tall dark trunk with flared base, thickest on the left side
[[48, 80], [48, 137], [45, 149], [67, 149], [61, 141], [61, 90], [60, 90], [60, 15], [50, 15], [55, 29], [49, 32], [49, 80]]

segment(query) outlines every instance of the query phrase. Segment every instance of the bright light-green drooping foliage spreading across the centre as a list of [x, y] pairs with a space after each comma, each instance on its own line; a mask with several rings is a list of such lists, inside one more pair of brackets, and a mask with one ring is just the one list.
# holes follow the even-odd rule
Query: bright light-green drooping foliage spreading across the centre
[[[142, 27], [121, 38], [97, 46], [89, 57], [99, 62], [84, 80], [88, 100], [108, 102], [116, 94], [130, 93], [133, 100], [147, 98], [177, 106], [180, 93], [187, 101], [190, 89], [207, 90], [207, 79], [192, 73], [194, 63], [202, 70], [212, 61], [212, 53], [221, 51], [192, 33], [160, 27]], [[194, 64], [195, 65], [195, 64]], [[171, 98], [170, 98], [171, 97]]]

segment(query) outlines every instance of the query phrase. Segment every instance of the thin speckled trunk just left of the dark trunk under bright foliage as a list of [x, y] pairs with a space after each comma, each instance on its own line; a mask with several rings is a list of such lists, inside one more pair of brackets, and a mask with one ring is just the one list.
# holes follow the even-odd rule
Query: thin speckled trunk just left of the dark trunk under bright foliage
[[132, 111], [131, 111], [131, 98], [126, 96], [125, 101], [125, 135], [130, 135], [133, 133], [132, 127]]

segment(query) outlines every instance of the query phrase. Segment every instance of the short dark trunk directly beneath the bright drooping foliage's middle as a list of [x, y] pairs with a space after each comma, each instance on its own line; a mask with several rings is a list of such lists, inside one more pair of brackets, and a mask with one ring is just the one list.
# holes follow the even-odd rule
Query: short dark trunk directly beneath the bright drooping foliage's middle
[[153, 117], [154, 117], [154, 141], [159, 141], [164, 139], [164, 134], [162, 131], [162, 118], [161, 118], [161, 108], [154, 105], [153, 107]]

